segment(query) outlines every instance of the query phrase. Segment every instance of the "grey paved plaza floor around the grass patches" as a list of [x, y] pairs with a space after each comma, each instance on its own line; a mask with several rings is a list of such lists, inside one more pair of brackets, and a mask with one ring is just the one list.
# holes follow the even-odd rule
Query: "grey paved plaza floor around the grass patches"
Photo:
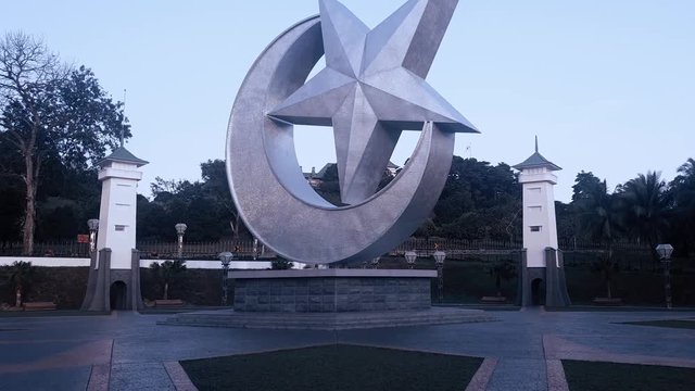
[[[0, 318], [0, 390], [188, 390], [177, 362], [327, 343], [485, 357], [469, 390], [561, 390], [559, 360], [695, 367], [695, 312], [493, 312], [500, 321], [302, 331], [157, 326], [167, 315]], [[466, 384], [462, 384], [465, 389]]]

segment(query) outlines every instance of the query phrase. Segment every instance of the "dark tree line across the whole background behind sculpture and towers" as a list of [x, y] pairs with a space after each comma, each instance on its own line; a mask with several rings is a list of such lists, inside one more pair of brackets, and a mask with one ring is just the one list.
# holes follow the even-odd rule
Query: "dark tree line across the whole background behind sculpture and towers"
[[[112, 100], [85, 66], [60, 61], [22, 33], [0, 40], [0, 245], [75, 240], [98, 217], [97, 162], [130, 137], [123, 103]], [[393, 177], [384, 173], [380, 187]], [[614, 189], [593, 173], [577, 174], [571, 202], [556, 202], [560, 240], [616, 241], [654, 248], [671, 242], [695, 253], [695, 161], [666, 182], [640, 174]], [[340, 205], [330, 166], [316, 191]], [[189, 241], [250, 239], [229, 192], [225, 163], [201, 164], [195, 181], [156, 178], [151, 198], [138, 195], [138, 240], [170, 241], [186, 223]], [[521, 239], [521, 187], [507, 164], [454, 156], [444, 190], [417, 237]]]

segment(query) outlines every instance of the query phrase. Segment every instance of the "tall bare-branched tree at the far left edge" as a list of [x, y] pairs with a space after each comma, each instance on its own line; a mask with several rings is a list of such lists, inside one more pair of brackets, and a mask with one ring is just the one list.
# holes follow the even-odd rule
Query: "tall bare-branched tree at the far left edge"
[[23, 33], [8, 33], [0, 40], [0, 104], [5, 110], [25, 111], [15, 116], [23, 121], [3, 122], [3, 137], [23, 157], [21, 174], [26, 186], [26, 210], [23, 223], [24, 253], [34, 252], [36, 190], [41, 171], [40, 134], [46, 126], [46, 111], [54, 100], [55, 85], [66, 70], [58, 55], [39, 39]]

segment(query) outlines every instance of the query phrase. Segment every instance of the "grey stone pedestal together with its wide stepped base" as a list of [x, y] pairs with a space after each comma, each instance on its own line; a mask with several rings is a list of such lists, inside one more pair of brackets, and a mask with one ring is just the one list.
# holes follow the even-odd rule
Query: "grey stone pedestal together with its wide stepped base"
[[491, 321], [480, 310], [432, 307], [434, 270], [230, 272], [235, 308], [182, 313], [160, 325], [349, 330]]

